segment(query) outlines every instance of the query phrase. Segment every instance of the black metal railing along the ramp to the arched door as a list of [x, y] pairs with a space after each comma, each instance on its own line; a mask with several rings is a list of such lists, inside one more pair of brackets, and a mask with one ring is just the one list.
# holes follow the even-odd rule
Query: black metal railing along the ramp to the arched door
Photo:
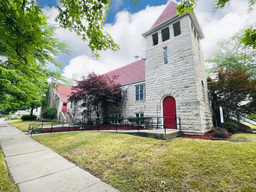
[[[171, 120], [175, 119], [175, 120]], [[171, 120], [171, 121], [170, 121]], [[56, 132], [56, 131], [84, 131], [84, 130], [128, 130], [136, 129], [181, 129], [180, 117], [133, 117], [123, 119], [76, 119], [73, 122], [46, 122], [29, 124], [28, 133]], [[120, 123], [119, 123], [120, 122]], [[45, 127], [46, 126], [46, 127]], [[178, 127], [179, 126], [179, 127]]]

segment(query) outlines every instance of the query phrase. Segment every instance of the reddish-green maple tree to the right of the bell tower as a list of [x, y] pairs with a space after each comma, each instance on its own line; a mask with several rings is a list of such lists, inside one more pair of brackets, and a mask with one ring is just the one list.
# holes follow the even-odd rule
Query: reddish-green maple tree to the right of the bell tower
[[250, 74], [237, 71], [218, 70], [216, 77], [208, 77], [208, 90], [213, 99], [222, 105], [227, 117], [232, 113], [250, 114], [256, 109], [256, 80]]

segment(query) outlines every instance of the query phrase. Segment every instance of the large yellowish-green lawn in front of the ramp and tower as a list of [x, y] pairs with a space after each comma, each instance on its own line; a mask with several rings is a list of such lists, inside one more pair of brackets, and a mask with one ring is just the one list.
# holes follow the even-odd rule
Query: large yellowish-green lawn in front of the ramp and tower
[[106, 132], [33, 136], [121, 192], [256, 191], [256, 135], [167, 141]]

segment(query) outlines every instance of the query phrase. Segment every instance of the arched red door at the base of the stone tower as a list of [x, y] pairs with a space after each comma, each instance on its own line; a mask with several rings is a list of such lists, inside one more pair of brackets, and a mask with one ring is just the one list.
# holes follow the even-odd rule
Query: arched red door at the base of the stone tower
[[[176, 117], [176, 101], [172, 96], [163, 99], [163, 117]], [[177, 129], [176, 118], [165, 118], [165, 124], [166, 129]]]

